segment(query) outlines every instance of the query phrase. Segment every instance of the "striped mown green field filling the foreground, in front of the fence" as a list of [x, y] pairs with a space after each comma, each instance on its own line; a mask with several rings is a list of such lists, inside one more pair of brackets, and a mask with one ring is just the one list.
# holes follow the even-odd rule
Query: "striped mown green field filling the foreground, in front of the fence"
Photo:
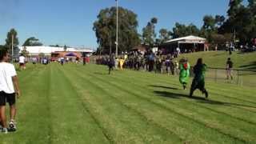
[[178, 78], [106, 66], [19, 72], [18, 131], [0, 143], [255, 143], [253, 87], [206, 82], [188, 98]]

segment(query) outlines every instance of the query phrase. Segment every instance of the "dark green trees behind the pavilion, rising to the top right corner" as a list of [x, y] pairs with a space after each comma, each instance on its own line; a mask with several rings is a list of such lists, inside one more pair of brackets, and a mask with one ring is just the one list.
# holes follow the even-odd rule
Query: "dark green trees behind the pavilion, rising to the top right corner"
[[[176, 23], [172, 32], [172, 38], [180, 38], [190, 34], [206, 38], [208, 42], [223, 44], [223, 42], [240, 42], [240, 44], [252, 44], [256, 38], [256, 0], [248, 0], [248, 6], [242, 4], [242, 0], [230, 1], [227, 18], [222, 15], [206, 15], [203, 18], [203, 26], [198, 30], [197, 26], [189, 26]], [[165, 34], [165, 31], [163, 34]], [[160, 32], [161, 42], [162, 35]]]

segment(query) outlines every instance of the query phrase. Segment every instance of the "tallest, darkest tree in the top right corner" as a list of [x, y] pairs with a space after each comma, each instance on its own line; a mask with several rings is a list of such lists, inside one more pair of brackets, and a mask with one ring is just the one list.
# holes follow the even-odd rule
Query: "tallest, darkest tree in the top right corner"
[[[249, 43], [256, 35], [256, 1], [248, 0], [248, 6], [242, 5], [242, 0], [230, 1], [228, 18], [219, 27], [220, 34], [232, 33], [240, 43]], [[233, 39], [234, 39], [233, 38]]]

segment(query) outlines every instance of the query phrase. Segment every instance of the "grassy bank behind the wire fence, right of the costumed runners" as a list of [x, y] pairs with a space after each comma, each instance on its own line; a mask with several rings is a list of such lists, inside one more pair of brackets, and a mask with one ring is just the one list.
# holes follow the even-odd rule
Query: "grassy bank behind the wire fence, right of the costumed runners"
[[[202, 58], [208, 67], [220, 69], [226, 68], [226, 59], [230, 57], [232, 62], [234, 62], [233, 81], [226, 81], [226, 70], [220, 69], [208, 69], [206, 78], [220, 83], [226, 82], [239, 86], [256, 86], [256, 52], [243, 54], [240, 52], [233, 52], [232, 55], [229, 55], [226, 51], [207, 51], [193, 54], [182, 54], [179, 58], [183, 57], [189, 59], [191, 66], [195, 65], [198, 58]], [[239, 70], [239, 72], [237, 70]]]

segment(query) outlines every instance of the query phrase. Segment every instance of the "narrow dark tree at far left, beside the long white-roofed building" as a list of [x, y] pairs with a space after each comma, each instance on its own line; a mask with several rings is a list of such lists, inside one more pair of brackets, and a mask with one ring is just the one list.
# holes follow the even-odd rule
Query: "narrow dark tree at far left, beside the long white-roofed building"
[[[10, 52], [10, 54], [12, 53], [12, 37], [14, 38], [14, 51], [17, 51], [18, 49], [18, 37], [17, 37], [18, 33], [15, 29], [10, 29], [10, 31], [7, 33], [7, 38], [6, 38], [6, 48], [8, 49], [8, 51]], [[15, 54], [15, 53], [14, 53]]]

